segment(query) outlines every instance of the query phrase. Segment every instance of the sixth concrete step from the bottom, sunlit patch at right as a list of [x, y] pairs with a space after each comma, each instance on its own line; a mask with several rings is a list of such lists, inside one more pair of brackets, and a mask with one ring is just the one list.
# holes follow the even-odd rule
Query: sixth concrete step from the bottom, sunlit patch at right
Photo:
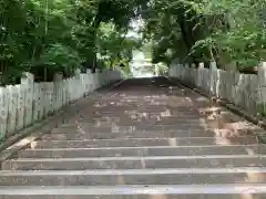
[[[244, 132], [231, 132], [231, 130], [203, 130], [203, 129], [186, 129], [186, 130], [155, 130], [155, 132], [119, 132], [119, 133], [93, 133], [93, 132], [82, 132], [79, 130], [76, 132], [69, 132], [69, 133], [58, 133], [58, 134], [47, 134], [42, 137], [42, 139], [45, 140], [62, 140], [62, 139], [78, 139], [78, 140], [83, 140], [83, 139], [122, 139], [122, 138], [173, 138], [173, 137], [216, 137], [219, 139], [221, 137], [238, 137], [238, 136], [248, 136], [248, 134], [245, 134]], [[250, 134], [253, 136], [253, 134]]]

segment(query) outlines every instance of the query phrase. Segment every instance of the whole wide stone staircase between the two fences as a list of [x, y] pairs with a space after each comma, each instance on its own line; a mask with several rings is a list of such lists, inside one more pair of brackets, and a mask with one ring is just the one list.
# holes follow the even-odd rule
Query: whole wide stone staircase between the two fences
[[265, 199], [262, 132], [166, 78], [129, 80], [3, 161], [0, 199]]

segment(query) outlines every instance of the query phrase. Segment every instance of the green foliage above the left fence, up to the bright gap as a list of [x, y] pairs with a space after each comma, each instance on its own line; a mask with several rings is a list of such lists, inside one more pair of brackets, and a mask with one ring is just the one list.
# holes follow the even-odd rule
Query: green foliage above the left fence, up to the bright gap
[[[81, 62], [88, 63], [85, 67], [105, 67], [102, 60], [96, 60], [96, 53], [104, 54], [104, 45], [112, 59], [114, 54], [127, 59], [131, 41], [120, 42], [117, 34], [127, 31], [145, 2], [0, 0], [2, 83], [18, 83], [24, 71], [34, 73], [40, 81], [51, 80], [57, 72], [69, 76]], [[102, 36], [104, 30], [99, 30], [102, 22], [113, 24], [117, 32], [113, 30], [111, 35]]]

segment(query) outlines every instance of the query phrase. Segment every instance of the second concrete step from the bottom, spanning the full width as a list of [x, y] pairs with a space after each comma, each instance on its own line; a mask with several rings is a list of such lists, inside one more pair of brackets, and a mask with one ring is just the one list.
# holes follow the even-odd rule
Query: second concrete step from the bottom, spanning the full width
[[0, 186], [265, 184], [266, 169], [1, 171]]

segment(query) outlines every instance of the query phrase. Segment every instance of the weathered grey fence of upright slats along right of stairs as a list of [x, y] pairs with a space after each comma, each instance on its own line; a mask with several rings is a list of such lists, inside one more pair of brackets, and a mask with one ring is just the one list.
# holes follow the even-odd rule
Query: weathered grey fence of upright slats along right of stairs
[[[191, 84], [218, 98], [226, 100], [250, 114], [258, 108], [265, 111], [266, 104], [266, 64], [262, 63], [258, 74], [241, 74], [222, 71], [213, 62], [211, 69], [201, 64], [200, 69], [182, 64], [172, 64], [168, 75], [185, 84]], [[260, 109], [262, 111], [262, 109]], [[259, 112], [260, 112], [259, 111]]]

